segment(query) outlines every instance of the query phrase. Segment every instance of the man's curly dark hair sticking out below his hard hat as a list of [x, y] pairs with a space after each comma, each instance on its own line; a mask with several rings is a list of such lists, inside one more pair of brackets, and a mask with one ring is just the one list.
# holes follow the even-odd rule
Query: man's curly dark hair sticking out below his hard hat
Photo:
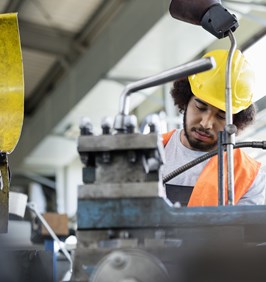
[[[193, 96], [188, 79], [184, 78], [175, 81], [170, 93], [173, 97], [174, 104], [178, 106], [179, 112], [184, 113], [190, 98]], [[247, 109], [234, 114], [233, 123], [237, 127], [238, 132], [251, 125], [255, 120], [255, 116], [256, 108], [254, 104], [251, 104]]]

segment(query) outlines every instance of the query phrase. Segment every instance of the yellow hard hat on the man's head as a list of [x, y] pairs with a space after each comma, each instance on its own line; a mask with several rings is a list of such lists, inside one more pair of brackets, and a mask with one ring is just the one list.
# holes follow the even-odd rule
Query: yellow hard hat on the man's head
[[[214, 50], [203, 57], [213, 57], [216, 67], [188, 77], [192, 93], [201, 100], [225, 111], [228, 50]], [[231, 78], [232, 112], [236, 114], [251, 105], [255, 82], [254, 72], [239, 50], [234, 52]]]

